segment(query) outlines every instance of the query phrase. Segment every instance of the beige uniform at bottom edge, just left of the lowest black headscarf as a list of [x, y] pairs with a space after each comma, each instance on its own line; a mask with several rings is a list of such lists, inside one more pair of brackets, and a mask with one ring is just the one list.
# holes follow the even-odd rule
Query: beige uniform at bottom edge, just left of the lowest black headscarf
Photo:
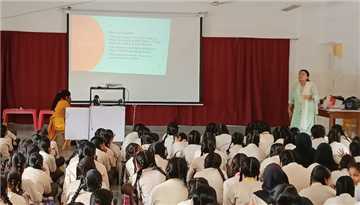
[[245, 178], [243, 181], [229, 187], [224, 205], [248, 205], [254, 192], [262, 190], [262, 183], [254, 178]]

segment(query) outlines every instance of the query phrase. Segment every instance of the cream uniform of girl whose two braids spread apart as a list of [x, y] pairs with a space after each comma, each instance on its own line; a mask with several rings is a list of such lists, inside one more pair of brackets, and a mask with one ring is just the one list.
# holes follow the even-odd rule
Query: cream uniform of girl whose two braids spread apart
[[[133, 186], [135, 185], [137, 174], [138, 173], [134, 174], [134, 176], [132, 177]], [[158, 170], [153, 169], [153, 167], [149, 167], [142, 171], [141, 177], [137, 182], [137, 190], [139, 196], [141, 194], [144, 205], [151, 204], [149, 202], [151, 191], [156, 185], [163, 183], [165, 180], [165, 176]]]

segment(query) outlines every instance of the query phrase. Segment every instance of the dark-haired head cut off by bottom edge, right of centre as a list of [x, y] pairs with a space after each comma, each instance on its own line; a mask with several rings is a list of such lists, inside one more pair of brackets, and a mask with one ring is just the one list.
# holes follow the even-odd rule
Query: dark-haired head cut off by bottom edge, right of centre
[[195, 194], [193, 194], [193, 202], [194, 205], [216, 205], [217, 203], [217, 197], [216, 197], [216, 191], [211, 186], [201, 186], [199, 187]]

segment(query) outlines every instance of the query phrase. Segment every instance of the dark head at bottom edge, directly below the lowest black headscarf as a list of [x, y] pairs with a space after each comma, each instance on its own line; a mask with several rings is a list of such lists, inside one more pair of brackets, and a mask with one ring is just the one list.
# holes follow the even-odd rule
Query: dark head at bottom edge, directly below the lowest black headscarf
[[269, 202], [276, 205], [289, 205], [298, 197], [300, 196], [293, 185], [279, 184], [270, 192]]

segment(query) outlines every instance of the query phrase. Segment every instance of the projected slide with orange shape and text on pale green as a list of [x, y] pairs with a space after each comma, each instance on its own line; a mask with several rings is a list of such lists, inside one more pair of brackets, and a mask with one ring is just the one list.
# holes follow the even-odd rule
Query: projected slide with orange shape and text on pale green
[[171, 20], [74, 15], [73, 71], [166, 75]]

